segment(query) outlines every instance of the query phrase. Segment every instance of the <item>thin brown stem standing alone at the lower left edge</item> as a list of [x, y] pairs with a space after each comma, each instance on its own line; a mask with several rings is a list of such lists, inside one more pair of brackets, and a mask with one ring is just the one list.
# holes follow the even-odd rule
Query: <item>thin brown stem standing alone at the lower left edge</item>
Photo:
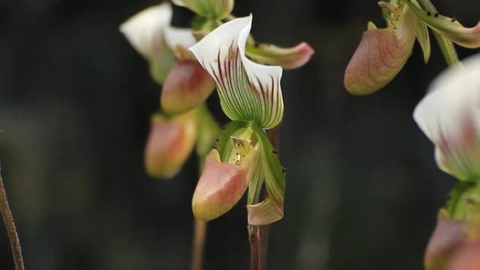
[[4, 223], [10, 240], [10, 248], [12, 250], [13, 261], [15, 262], [15, 270], [24, 270], [22, 248], [20, 248], [20, 240], [18, 239], [17, 229], [15, 229], [15, 222], [13, 222], [12, 212], [8, 206], [6, 198], [4, 180], [1, 178], [0, 169], [0, 211], [1, 216], [4, 217]]

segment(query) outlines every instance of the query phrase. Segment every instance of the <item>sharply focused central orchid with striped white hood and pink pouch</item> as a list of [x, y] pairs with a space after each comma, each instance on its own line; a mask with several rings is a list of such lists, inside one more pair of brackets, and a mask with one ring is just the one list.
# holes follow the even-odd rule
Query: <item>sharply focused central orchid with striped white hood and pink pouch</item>
[[[284, 168], [264, 131], [277, 126], [284, 114], [282, 68], [260, 65], [247, 57], [251, 24], [252, 16], [231, 20], [189, 48], [212, 76], [223, 112], [233, 120], [206, 157], [194, 191], [192, 209], [200, 220], [225, 214], [247, 188], [249, 224], [270, 224], [284, 215]], [[300, 66], [313, 53], [311, 48], [305, 51], [305, 46], [283, 49], [288, 53], [274, 48], [277, 55], [295, 57], [265, 58], [265, 62], [276, 59]], [[258, 203], [264, 180], [268, 195]]]

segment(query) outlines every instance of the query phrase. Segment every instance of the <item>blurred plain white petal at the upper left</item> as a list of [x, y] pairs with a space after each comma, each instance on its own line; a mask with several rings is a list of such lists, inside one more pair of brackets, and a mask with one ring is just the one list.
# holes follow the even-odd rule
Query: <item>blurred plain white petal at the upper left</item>
[[120, 25], [126, 39], [147, 60], [157, 58], [164, 50], [164, 29], [170, 25], [172, 7], [168, 2], [152, 6], [133, 15]]

